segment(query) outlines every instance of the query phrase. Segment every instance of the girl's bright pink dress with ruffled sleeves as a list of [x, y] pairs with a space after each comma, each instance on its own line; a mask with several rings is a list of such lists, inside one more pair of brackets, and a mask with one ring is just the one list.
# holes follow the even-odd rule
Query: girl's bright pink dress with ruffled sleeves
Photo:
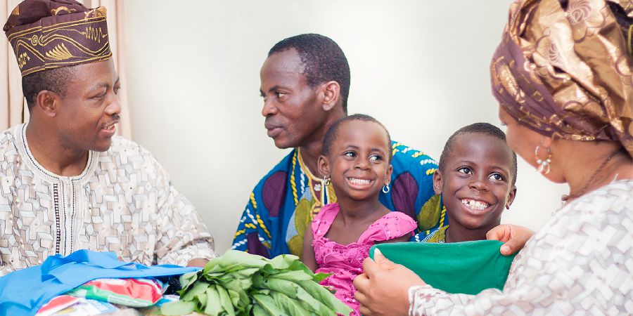
[[314, 235], [314, 256], [319, 269], [316, 272], [333, 273], [321, 281], [321, 285], [333, 287], [334, 296], [347, 304], [354, 311], [350, 315], [360, 315], [358, 302], [354, 299], [354, 277], [363, 272], [363, 260], [369, 256], [369, 249], [376, 242], [395, 239], [404, 235], [412, 235], [417, 224], [415, 220], [402, 212], [389, 212], [369, 225], [369, 228], [359, 237], [357, 242], [348, 245], [331, 242], [324, 237], [336, 214], [337, 203], [323, 206], [312, 220], [312, 235]]

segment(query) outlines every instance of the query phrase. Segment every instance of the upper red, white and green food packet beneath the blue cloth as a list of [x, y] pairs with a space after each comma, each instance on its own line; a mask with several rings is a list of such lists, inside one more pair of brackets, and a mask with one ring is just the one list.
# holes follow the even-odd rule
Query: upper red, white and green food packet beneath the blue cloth
[[132, 307], [154, 305], [162, 296], [156, 279], [95, 279], [67, 294]]

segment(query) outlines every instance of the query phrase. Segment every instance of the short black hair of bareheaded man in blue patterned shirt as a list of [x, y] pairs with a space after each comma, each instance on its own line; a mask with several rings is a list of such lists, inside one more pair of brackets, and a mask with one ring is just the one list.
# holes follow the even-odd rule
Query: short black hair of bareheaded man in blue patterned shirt
[[350, 65], [338, 44], [321, 34], [300, 34], [279, 41], [270, 48], [268, 56], [295, 48], [303, 63], [308, 86], [314, 88], [327, 81], [340, 85], [343, 112], [347, 114], [347, 96], [350, 95]]

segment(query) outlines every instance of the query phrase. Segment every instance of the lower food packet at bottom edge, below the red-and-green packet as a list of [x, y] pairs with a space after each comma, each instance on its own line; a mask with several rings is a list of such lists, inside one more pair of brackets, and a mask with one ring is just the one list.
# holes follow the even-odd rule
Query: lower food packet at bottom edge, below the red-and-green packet
[[107, 302], [88, 298], [60, 295], [42, 306], [35, 316], [86, 316], [99, 315], [119, 310]]

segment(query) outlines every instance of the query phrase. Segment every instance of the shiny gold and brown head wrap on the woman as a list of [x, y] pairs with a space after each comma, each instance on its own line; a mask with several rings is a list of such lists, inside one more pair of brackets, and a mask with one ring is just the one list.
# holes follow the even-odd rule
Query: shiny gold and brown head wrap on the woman
[[567, 140], [612, 140], [633, 157], [631, 1], [518, 0], [490, 72], [520, 124]]

